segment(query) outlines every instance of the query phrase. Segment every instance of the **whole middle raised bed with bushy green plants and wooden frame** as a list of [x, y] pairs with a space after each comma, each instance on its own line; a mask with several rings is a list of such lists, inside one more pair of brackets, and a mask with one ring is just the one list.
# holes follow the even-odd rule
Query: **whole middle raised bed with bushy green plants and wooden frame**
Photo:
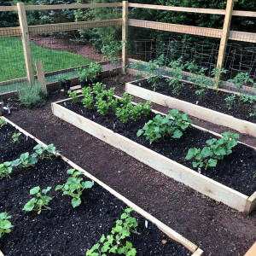
[[132, 103], [99, 83], [92, 93], [87, 87], [82, 97], [72, 94], [52, 104], [56, 116], [204, 195], [253, 211], [256, 151], [237, 143], [236, 133], [206, 131], [176, 109], [151, 111], [150, 102]]

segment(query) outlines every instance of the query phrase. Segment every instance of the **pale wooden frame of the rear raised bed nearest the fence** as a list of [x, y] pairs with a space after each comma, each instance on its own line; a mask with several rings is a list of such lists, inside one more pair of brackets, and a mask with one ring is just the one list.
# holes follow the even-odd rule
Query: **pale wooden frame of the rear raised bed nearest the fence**
[[[137, 81], [139, 80], [134, 82]], [[125, 91], [133, 96], [140, 97], [144, 100], [150, 100], [151, 102], [157, 103], [161, 106], [176, 108], [177, 110], [189, 113], [189, 115], [195, 116], [196, 118], [206, 120], [216, 125], [223, 125], [241, 133], [256, 137], [256, 124], [246, 120], [237, 119], [229, 114], [220, 113], [209, 108], [203, 108], [190, 102], [184, 102], [171, 96], [160, 94], [153, 90], [147, 90], [132, 84], [132, 82], [125, 84]], [[222, 91], [230, 93], [228, 90]]]

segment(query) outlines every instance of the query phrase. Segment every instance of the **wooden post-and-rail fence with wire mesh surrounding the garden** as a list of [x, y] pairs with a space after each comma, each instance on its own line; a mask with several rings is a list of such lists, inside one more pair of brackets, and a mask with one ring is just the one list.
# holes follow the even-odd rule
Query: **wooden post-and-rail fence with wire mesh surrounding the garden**
[[[128, 63], [136, 59], [154, 60], [159, 55], [164, 55], [168, 64], [183, 56], [183, 61], [195, 61], [198, 67], [207, 67], [209, 73], [213, 67], [224, 67], [228, 70], [224, 79], [232, 78], [240, 72], [246, 72], [255, 79], [256, 33], [232, 31], [230, 24], [232, 17], [254, 19], [256, 12], [233, 10], [233, 7], [234, 0], [227, 1], [225, 10], [126, 1], [38, 6], [18, 3], [17, 6], [2, 6], [1, 12], [18, 12], [20, 26], [0, 28], [0, 92], [16, 90], [27, 82], [33, 84], [34, 79], [37, 79], [34, 61], [43, 61], [47, 83], [57, 81], [60, 73], [65, 78], [77, 77], [76, 68], [90, 61], [101, 61], [106, 66], [101, 48], [102, 44], [108, 44], [109, 35], [116, 42], [126, 39], [122, 57], [120, 53], [122, 63], [118, 63], [117, 67], [127, 67]], [[29, 12], [51, 13], [66, 9], [98, 9], [102, 13], [106, 9], [113, 9], [114, 19], [27, 25], [26, 15]], [[158, 10], [163, 14], [213, 15], [223, 19], [224, 23], [220, 29], [137, 20], [134, 19], [137, 18], [137, 9]], [[109, 68], [107, 66], [105, 69]]]

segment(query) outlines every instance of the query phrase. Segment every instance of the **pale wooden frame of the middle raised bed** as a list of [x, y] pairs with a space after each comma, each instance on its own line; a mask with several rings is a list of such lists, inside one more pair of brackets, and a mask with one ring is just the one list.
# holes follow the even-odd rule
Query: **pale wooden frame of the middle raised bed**
[[[153, 150], [135, 143], [102, 125], [98, 125], [90, 119], [86, 119], [59, 105], [61, 102], [70, 100], [71, 99], [66, 99], [52, 103], [52, 112], [55, 116], [79, 127], [79, 129], [88, 132], [90, 135], [101, 139], [103, 142], [108, 143], [115, 148], [121, 149], [126, 154], [129, 154], [155, 170], [166, 174], [166, 176], [172, 177], [178, 182], [184, 183], [190, 188], [195, 189], [201, 194], [207, 195], [216, 201], [222, 201], [225, 205], [235, 208], [240, 212], [249, 214], [256, 207], [256, 192], [251, 196], [243, 195], [235, 189], [230, 189], [209, 177], [178, 164], [176, 161], [170, 160], [161, 154], [155, 153]], [[153, 112], [160, 113], [154, 110]], [[160, 114], [165, 115], [164, 113]], [[194, 126], [201, 131], [207, 131], [199, 126]], [[208, 132], [220, 136], [218, 133], [212, 131]], [[254, 149], [256, 150], [256, 148]]]

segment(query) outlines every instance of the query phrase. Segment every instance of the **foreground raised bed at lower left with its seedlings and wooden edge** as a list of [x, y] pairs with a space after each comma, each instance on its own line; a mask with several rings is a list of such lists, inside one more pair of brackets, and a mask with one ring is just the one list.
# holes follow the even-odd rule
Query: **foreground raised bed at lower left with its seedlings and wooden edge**
[[195, 244], [56, 153], [53, 144], [0, 120], [4, 255], [201, 255]]

